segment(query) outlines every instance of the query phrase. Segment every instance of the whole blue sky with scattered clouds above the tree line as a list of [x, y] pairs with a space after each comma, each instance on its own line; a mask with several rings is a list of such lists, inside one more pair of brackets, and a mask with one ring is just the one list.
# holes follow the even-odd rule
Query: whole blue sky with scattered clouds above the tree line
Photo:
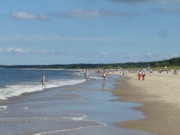
[[0, 65], [180, 56], [180, 0], [0, 0]]

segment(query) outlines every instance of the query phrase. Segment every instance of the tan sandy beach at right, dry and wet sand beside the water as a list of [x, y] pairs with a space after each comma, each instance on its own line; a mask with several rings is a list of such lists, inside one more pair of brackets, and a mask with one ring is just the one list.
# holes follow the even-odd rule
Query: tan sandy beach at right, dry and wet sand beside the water
[[[113, 73], [122, 75], [122, 73]], [[121, 128], [141, 130], [158, 135], [180, 134], [180, 75], [147, 73], [139, 81], [136, 73], [129, 73], [117, 84], [114, 95], [119, 101], [138, 102], [147, 118], [116, 123]]]

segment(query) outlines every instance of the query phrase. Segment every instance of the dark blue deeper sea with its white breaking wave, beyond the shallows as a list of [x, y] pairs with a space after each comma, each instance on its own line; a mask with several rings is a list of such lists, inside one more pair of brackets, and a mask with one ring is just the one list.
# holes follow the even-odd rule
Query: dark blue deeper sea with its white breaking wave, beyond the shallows
[[0, 69], [0, 100], [24, 93], [44, 90], [42, 74], [46, 75], [46, 88], [74, 85], [84, 82], [83, 72], [65, 70]]

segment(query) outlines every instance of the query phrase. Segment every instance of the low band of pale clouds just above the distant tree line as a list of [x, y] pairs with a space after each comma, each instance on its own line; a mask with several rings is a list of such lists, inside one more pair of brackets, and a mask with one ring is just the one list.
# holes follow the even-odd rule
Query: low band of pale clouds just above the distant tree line
[[[151, 52], [132, 53], [132, 52], [68, 52], [68, 51], [45, 51], [45, 50], [30, 50], [23, 48], [0, 48], [0, 55], [8, 55], [13, 58], [21, 57], [22, 59], [28, 56], [30, 59], [34, 56], [43, 56], [44, 59], [52, 58], [56, 60], [56, 64], [72, 64], [72, 63], [124, 63], [124, 62], [147, 62], [165, 60], [174, 57], [179, 57], [179, 53], [171, 53], [166, 55], [155, 54]], [[25, 56], [25, 57], [22, 57]], [[51, 57], [49, 57], [51, 56]], [[41, 57], [42, 58], [42, 57]], [[67, 63], [59, 63], [60, 58], [65, 58]], [[38, 59], [37, 59], [38, 60]]]

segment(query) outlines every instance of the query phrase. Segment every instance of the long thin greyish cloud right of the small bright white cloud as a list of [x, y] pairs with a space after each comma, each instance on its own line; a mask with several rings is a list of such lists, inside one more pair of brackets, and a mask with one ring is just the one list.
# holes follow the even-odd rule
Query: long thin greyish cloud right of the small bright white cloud
[[133, 17], [137, 16], [137, 12], [121, 12], [118, 10], [84, 10], [77, 9], [70, 12], [59, 12], [52, 14], [59, 17], [70, 18], [101, 18], [107, 16]]

